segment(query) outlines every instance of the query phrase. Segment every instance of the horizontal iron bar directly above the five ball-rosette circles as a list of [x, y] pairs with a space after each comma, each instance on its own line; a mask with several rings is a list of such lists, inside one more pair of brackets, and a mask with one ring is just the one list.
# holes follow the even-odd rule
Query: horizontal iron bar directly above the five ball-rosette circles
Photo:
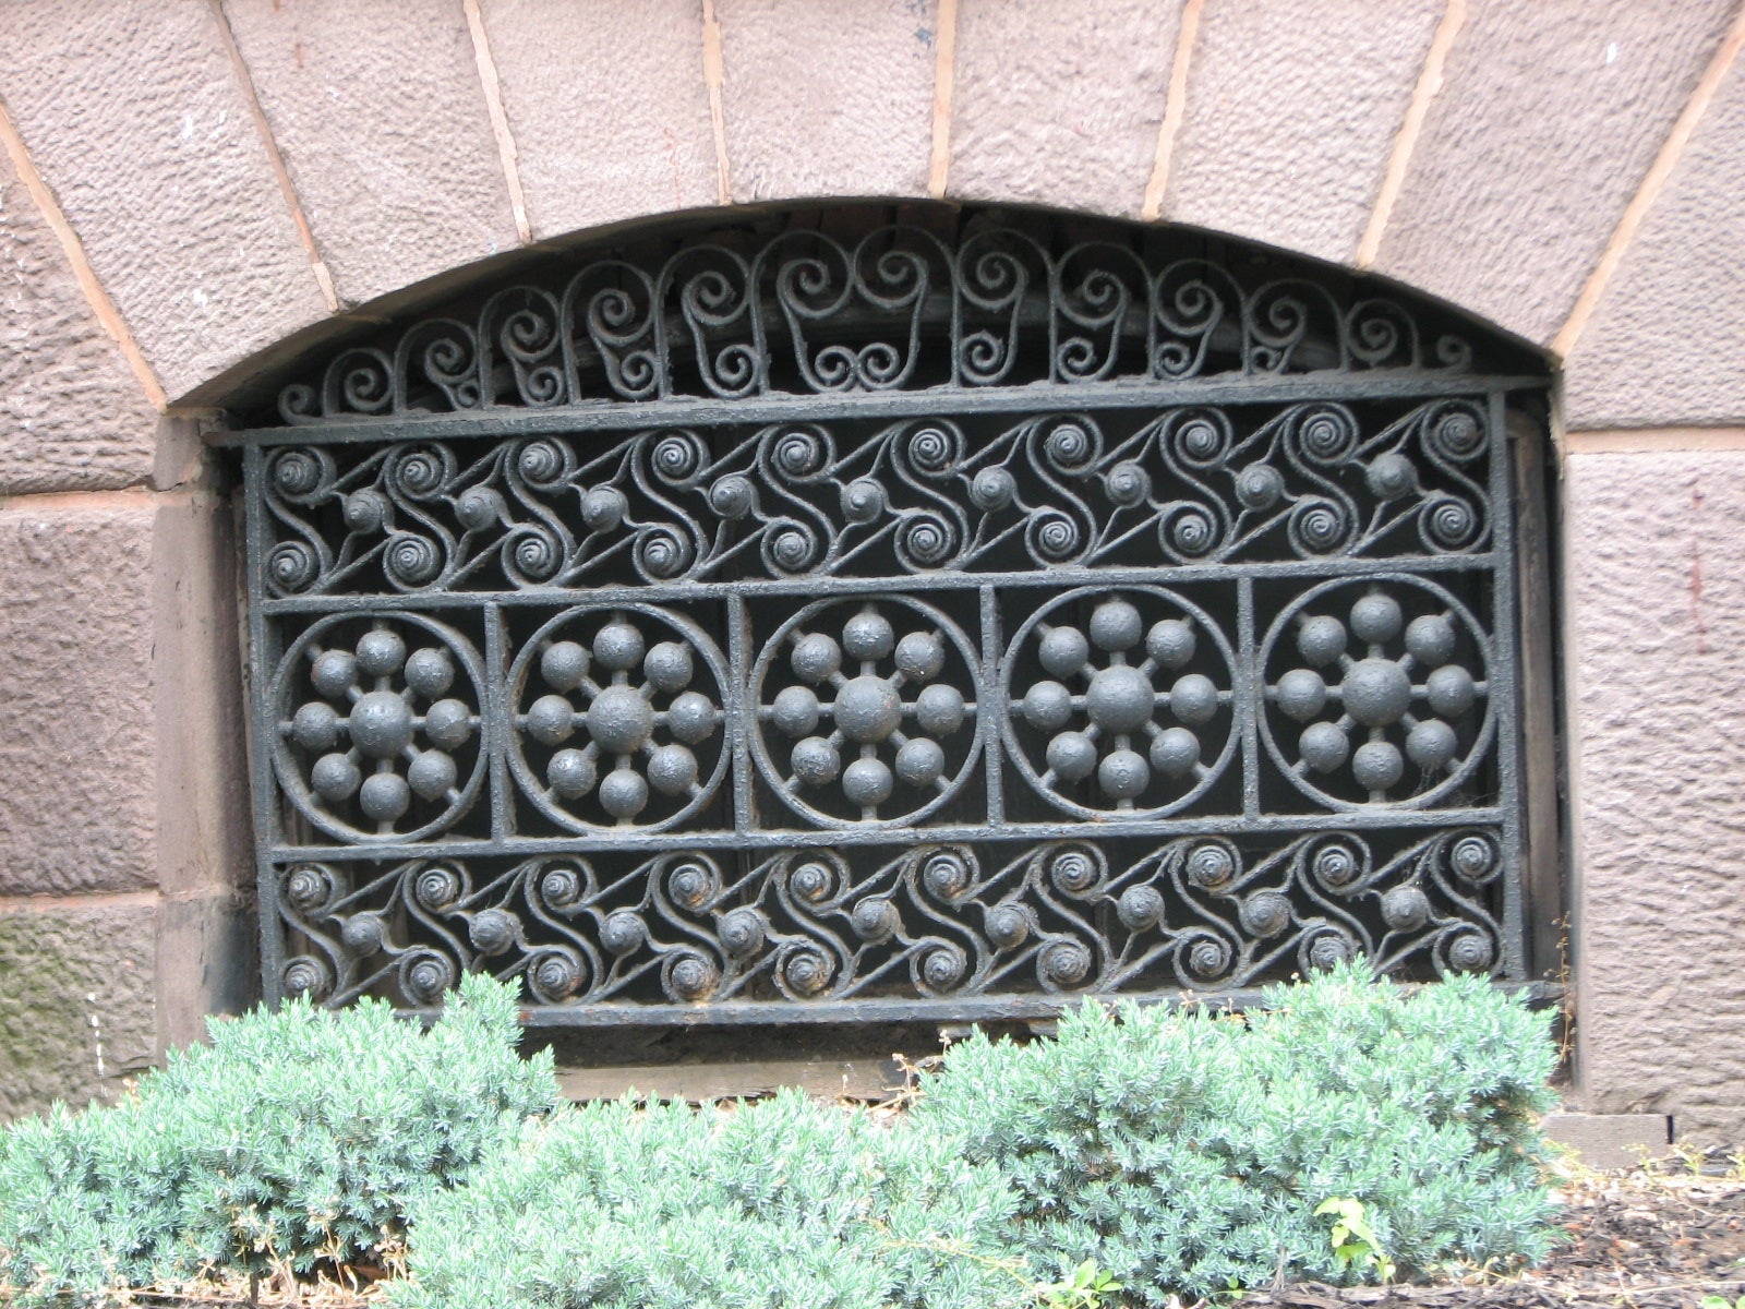
[[265, 614], [340, 613], [346, 609], [478, 609], [501, 606], [574, 606], [574, 604], [670, 604], [675, 600], [719, 600], [724, 595], [818, 595], [829, 586], [836, 595], [890, 595], [892, 592], [975, 592], [982, 586], [1174, 586], [1188, 583], [1227, 583], [1234, 578], [1365, 578], [1377, 572], [1483, 572], [1497, 564], [1492, 552], [1471, 555], [1426, 555], [1386, 559], [1286, 559], [1253, 564], [1150, 564], [1145, 567], [1070, 567], [1026, 572], [916, 572], [885, 578], [838, 578], [831, 574], [768, 579], [672, 581], [616, 586], [529, 586], [499, 592], [339, 592], [330, 595], [290, 595], [262, 599]]

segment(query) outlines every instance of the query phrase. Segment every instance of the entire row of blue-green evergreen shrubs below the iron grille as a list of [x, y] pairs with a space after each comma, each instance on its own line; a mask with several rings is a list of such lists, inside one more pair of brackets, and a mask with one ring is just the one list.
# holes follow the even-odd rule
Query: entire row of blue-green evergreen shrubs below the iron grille
[[[1016, 1309], [1092, 1285], [1160, 1309], [1546, 1253], [1548, 1016], [1361, 967], [1267, 1002], [974, 1037], [888, 1126], [797, 1093], [551, 1112], [551, 1059], [517, 1056], [489, 977], [429, 1031], [290, 1004], [215, 1023], [115, 1108], [0, 1131], [0, 1300], [401, 1239], [394, 1309]], [[1340, 1215], [1361, 1246], [1347, 1222], [1335, 1248]]]

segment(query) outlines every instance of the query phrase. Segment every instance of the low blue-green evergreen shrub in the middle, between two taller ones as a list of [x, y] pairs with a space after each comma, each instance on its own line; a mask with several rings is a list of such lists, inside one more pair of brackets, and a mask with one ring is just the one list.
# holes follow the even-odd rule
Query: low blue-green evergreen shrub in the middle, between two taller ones
[[995, 1309], [1031, 1299], [1017, 1196], [956, 1141], [784, 1091], [530, 1124], [412, 1210], [403, 1309]]

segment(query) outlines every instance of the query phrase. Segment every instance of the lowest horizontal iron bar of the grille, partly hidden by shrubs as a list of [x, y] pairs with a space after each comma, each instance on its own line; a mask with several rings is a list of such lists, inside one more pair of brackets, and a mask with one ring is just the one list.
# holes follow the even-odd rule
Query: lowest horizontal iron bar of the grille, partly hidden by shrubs
[[[1401, 983], [1401, 990], [1417, 991], [1424, 983]], [[1564, 998], [1564, 986], [1546, 981], [1499, 979], [1497, 990], [1525, 995], [1532, 1004]], [[529, 1028], [616, 1028], [616, 1026], [756, 1026], [790, 1023], [1000, 1023], [1059, 1018], [1085, 1000], [1098, 1004], [1133, 1000], [1139, 1005], [1204, 1005], [1208, 1009], [1260, 1009], [1265, 1004], [1263, 988], [1237, 991], [1115, 991], [1092, 995], [972, 995], [928, 1000], [829, 1000], [801, 1004], [792, 1000], [700, 1000], [689, 1005], [674, 1004], [588, 1004], [541, 1005], [522, 1009], [522, 1023]], [[401, 1009], [401, 1016], [426, 1023], [436, 1019], [436, 1009]]]

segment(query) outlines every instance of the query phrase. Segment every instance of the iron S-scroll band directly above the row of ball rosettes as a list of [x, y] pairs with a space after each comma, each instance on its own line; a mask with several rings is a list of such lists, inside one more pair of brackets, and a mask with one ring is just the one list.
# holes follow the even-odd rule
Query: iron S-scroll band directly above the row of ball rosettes
[[[967, 426], [972, 431], [967, 431]], [[274, 595], [541, 590], [1483, 552], [1469, 400], [291, 445]], [[586, 456], [583, 456], [586, 450]]]

